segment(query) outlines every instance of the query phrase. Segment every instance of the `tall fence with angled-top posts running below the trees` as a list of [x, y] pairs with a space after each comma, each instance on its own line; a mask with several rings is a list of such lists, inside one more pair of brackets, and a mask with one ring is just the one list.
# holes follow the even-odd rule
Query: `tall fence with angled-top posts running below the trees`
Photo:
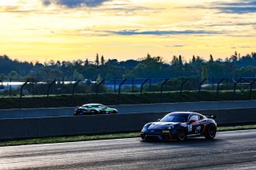
[[[76, 95], [110, 93], [120, 96], [121, 94], [144, 94], [144, 93], [160, 93], [178, 92], [182, 98], [184, 92], [197, 93], [198, 101], [202, 91], [216, 93], [216, 99], [222, 91], [233, 93], [233, 97], [238, 98], [239, 95], [246, 96], [248, 99], [252, 97], [252, 91], [255, 89], [255, 77], [176, 77], [176, 78], [113, 78], [110, 80], [75, 80], [75, 81], [38, 81], [35, 82], [15, 82], [0, 81], [0, 97], [19, 97], [20, 108], [22, 108], [22, 97], [46, 97], [46, 107], [48, 98], [53, 96], [68, 95], [74, 97]], [[118, 97], [118, 100], [121, 100]]]

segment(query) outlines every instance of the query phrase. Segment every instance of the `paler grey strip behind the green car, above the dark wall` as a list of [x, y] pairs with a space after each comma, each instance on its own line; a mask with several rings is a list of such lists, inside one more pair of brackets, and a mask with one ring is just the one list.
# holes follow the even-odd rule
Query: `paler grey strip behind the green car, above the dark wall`
[[[127, 113], [158, 113], [174, 111], [198, 111], [207, 109], [245, 109], [255, 108], [256, 100], [252, 101], [201, 101], [182, 103], [158, 103], [138, 105], [110, 105], [118, 109], [119, 114]], [[0, 109], [0, 119], [28, 118], [28, 117], [70, 117], [74, 115], [74, 108], [54, 109]]]

